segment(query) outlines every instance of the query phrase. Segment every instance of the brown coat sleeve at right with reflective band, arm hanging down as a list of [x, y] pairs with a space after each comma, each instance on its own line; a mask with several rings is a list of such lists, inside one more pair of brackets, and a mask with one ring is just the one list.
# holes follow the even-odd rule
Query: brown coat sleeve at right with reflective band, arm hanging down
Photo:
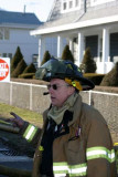
[[108, 126], [96, 110], [90, 112], [89, 122], [86, 148], [87, 177], [116, 177], [115, 150]]

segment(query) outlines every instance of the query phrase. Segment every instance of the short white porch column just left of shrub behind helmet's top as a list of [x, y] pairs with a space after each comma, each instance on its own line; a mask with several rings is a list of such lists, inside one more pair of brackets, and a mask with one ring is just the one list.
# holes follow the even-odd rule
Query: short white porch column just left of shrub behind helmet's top
[[62, 56], [63, 52], [63, 38], [61, 35], [57, 37], [57, 58]]

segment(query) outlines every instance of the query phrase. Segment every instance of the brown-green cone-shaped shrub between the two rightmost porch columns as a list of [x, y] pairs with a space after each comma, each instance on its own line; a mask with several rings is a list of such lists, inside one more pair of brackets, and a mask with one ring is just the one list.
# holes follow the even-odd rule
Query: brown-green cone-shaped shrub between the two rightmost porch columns
[[96, 62], [92, 58], [90, 49], [87, 48], [81, 64], [81, 70], [84, 71], [84, 73], [95, 73], [96, 72]]

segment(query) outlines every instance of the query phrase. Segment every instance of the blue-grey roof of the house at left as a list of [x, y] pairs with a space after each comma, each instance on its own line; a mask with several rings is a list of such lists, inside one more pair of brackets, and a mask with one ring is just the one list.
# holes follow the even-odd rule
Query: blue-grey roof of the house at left
[[34, 24], [40, 25], [42, 22], [34, 13], [0, 11], [0, 24]]

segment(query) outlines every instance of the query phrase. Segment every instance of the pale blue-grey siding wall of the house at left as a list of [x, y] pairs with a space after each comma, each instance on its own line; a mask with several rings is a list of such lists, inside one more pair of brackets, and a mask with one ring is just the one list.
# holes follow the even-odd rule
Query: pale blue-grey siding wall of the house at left
[[39, 40], [30, 35], [30, 30], [26, 29], [9, 29], [9, 40], [0, 40], [0, 54], [15, 53], [18, 46], [21, 49], [21, 53], [28, 64], [32, 62], [32, 55], [37, 54]]

